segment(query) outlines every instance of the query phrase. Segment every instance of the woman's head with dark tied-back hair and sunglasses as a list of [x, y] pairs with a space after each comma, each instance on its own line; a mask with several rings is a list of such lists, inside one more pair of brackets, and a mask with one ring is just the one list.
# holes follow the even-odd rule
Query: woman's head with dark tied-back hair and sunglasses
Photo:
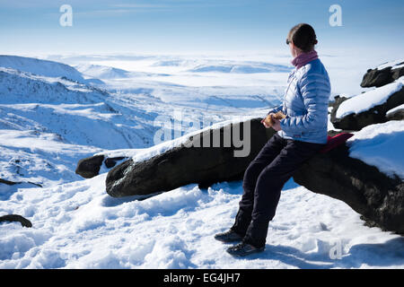
[[306, 53], [314, 49], [317, 44], [316, 33], [311, 25], [300, 23], [289, 31], [286, 43], [290, 46], [292, 55], [296, 57], [301, 52]]

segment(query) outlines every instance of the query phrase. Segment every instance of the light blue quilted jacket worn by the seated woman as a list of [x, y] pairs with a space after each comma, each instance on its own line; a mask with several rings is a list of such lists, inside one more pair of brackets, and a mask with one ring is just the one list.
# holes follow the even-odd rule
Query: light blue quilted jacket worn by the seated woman
[[309, 143], [327, 143], [328, 106], [331, 86], [329, 74], [320, 59], [312, 60], [289, 74], [282, 105], [269, 110], [282, 110], [278, 135]]

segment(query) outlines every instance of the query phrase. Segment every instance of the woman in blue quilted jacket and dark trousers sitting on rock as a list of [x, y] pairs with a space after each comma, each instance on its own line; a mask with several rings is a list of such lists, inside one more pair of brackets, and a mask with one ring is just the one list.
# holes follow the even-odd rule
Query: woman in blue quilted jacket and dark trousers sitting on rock
[[[312, 26], [300, 23], [288, 33], [286, 44], [294, 57], [283, 104], [268, 112], [277, 131], [244, 173], [243, 195], [233, 227], [215, 239], [242, 241], [227, 249], [233, 256], [263, 251], [270, 222], [285, 182], [304, 161], [327, 143], [329, 75], [314, 50]], [[282, 111], [284, 118], [275, 117]], [[282, 119], [279, 119], [282, 118]], [[261, 121], [269, 127], [268, 121]]]

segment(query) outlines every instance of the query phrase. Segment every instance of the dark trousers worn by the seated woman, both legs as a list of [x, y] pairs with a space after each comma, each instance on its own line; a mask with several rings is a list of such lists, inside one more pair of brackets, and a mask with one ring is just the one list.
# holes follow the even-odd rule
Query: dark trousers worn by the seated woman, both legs
[[244, 172], [244, 192], [231, 228], [244, 236], [243, 241], [265, 246], [268, 222], [275, 216], [282, 187], [323, 146], [286, 140], [277, 134], [268, 140]]

